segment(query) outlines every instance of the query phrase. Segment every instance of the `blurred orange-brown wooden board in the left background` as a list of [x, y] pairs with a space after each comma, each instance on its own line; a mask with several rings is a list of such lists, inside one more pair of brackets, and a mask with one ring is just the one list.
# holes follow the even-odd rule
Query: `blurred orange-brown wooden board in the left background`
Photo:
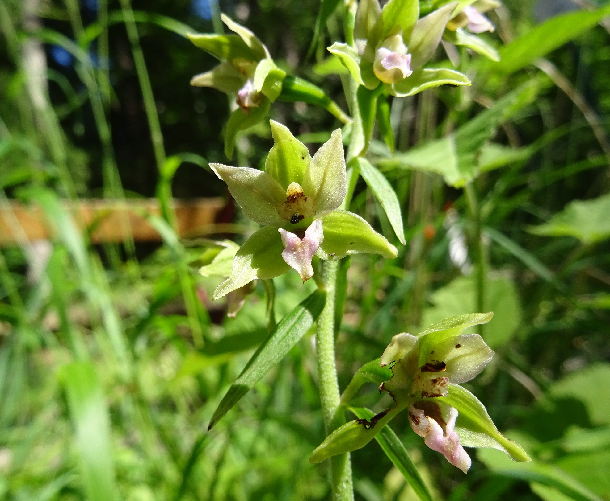
[[[161, 214], [159, 200], [156, 198], [65, 201], [64, 206], [73, 213], [74, 221], [84, 226], [82, 229], [90, 231], [93, 243], [123, 241], [126, 224], [131, 228], [136, 242], [161, 240], [159, 233], [143, 217], [146, 213]], [[197, 234], [198, 230], [213, 226], [223, 206], [221, 198], [174, 198], [173, 208], [180, 236]], [[23, 238], [52, 238], [52, 225], [49, 225], [40, 206], [10, 201], [10, 209], [1, 209], [0, 215], [0, 245], [12, 244]]]

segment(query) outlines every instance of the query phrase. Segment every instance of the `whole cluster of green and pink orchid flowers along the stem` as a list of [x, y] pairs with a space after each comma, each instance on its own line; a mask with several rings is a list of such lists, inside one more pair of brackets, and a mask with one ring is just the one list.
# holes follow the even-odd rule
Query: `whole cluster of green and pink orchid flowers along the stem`
[[[438, 8], [420, 18], [418, 0], [390, 0], [384, 9], [378, 0], [360, 0], [353, 44], [334, 43], [328, 50], [368, 91], [410, 96], [447, 83], [470, 85], [458, 71], [424, 65], [442, 39], [478, 50], [483, 42], [473, 43], [475, 35], [465, 34], [464, 28], [470, 33], [493, 31], [484, 12], [499, 4], [495, 0], [436, 0], [432, 4]], [[221, 60], [191, 83], [235, 95], [237, 109], [229, 119], [226, 141], [234, 140], [235, 131], [262, 121], [270, 103], [281, 96], [325, 102], [327, 110], [346, 122], [335, 103], [327, 97], [320, 100], [322, 91], [312, 84], [302, 81], [304, 91], [297, 99], [294, 80], [287, 86], [290, 77], [274, 63], [267, 47], [245, 27], [227, 16], [222, 19], [237, 35], [190, 35], [196, 46]], [[210, 164], [246, 217], [262, 225], [239, 249], [228, 247], [218, 254], [216, 259], [224, 260], [226, 280], [215, 290], [214, 299], [242, 291], [243, 303], [243, 291], [249, 287], [251, 292], [254, 280], [271, 279], [290, 268], [307, 281], [315, 273], [315, 256], [326, 261], [356, 253], [376, 253], [389, 259], [397, 256], [392, 243], [342, 207], [346, 195], [342, 131], [332, 132], [312, 158], [287, 127], [273, 120], [270, 125], [274, 145], [264, 170]], [[229, 157], [231, 152], [232, 148]], [[232, 267], [226, 265], [228, 259], [232, 259]], [[491, 316], [463, 315], [434, 324], [417, 336], [401, 333], [393, 337], [379, 360], [379, 365], [391, 367], [392, 377], [379, 390], [392, 396], [394, 407], [370, 421], [356, 419], [343, 425], [314, 451], [310, 461], [364, 446], [404, 409], [425, 444], [464, 472], [471, 464], [464, 446], [495, 447], [515, 460], [528, 461], [519, 445], [498, 432], [483, 404], [459, 386], [481, 373], [493, 356], [480, 335], [463, 332], [486, 323]]]

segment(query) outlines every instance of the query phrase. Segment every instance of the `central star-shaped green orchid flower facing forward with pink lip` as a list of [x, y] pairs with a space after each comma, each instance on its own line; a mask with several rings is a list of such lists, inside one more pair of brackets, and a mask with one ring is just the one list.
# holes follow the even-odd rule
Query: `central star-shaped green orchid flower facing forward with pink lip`
[[215, 290], [214, 299], [290, 268], [304, 282], [314, 275], [314, 256], [325, 261], [357, 253], [397, 256], [396, 248], [362, 217], [339, 209], [346, 193], [341, 130], [311, 158], [287, 127], [270, 124], [274, 145], [264, 171], [210, 163], [246, 217], [264, 225], [235, 253], [231, 276]]

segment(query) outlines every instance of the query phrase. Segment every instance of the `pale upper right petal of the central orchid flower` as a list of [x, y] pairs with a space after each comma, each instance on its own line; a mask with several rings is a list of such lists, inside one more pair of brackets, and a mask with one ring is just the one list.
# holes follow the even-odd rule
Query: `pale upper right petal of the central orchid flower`
[[332, 132], [311, 159], [302, 186], [305, 194], [315, 198], [317, 215], [328, 214], [342, 204], [347, 187], [340, 128]]

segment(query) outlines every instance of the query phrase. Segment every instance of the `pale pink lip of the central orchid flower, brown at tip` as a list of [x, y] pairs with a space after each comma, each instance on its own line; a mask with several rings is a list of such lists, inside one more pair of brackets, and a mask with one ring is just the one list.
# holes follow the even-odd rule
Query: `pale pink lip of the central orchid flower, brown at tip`
[[318, 248], [320, 248], [320, 244], [324, 241], [321, 220], [316, 219], [311, 223], [309, 228], [305, 230], [303, 238], [283, 228], [279, 228], [278, 231], [284, 244], [282, 259], [301, 275], [303, 282], [306, 282], [314, 276], [311, 261], [314, 259]]

